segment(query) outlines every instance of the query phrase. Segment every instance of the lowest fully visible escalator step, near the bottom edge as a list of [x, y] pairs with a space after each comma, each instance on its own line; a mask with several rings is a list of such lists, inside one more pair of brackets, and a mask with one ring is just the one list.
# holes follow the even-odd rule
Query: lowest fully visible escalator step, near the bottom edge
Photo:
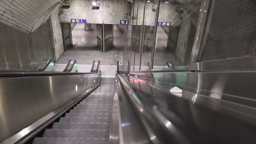
[[43, 137], [104, 139], [107, 130], [46, 129]]

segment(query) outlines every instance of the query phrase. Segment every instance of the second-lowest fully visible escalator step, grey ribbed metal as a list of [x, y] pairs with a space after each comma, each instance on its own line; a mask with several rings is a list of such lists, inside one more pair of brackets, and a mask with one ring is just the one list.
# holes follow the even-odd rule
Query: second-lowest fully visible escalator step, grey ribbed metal
[[54, 123], [53, 129], [108, 129], [108, 123]]

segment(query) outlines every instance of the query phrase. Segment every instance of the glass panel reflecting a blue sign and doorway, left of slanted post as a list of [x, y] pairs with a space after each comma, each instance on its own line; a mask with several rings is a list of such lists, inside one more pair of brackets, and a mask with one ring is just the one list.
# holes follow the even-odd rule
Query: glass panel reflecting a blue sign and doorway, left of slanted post
[[189, 65], [201, 0], [160, 0], [154, 69]]

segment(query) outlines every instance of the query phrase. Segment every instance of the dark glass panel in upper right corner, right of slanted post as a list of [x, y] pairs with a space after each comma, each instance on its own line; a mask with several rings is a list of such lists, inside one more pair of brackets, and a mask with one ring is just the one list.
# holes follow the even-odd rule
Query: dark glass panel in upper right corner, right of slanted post
[[211, 4], [200, 61], [255, 55], [256, 7], [251, 0], [218, 0]]

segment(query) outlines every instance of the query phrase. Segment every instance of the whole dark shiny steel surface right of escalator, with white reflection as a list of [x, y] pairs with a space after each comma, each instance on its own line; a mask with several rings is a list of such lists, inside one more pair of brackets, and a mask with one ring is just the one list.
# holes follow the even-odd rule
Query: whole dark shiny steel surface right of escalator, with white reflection
[[[119, 75], [144, 127], [164, 143], [254, 143], [254, 77], [255, 71]], [[173, 87], [182, 93], [171, 93]]]

